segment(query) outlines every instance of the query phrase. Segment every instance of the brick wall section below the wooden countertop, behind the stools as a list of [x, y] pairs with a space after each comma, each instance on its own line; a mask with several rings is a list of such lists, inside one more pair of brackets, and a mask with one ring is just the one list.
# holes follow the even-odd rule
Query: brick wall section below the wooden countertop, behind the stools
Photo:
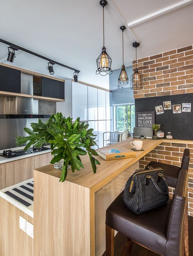
[[[188, 214], [193, 216], [193, 144], [163, 142], [139, 160], [139, 167], [140, 169], [144, 169], [151, 161], [181, 166], [185, 148], [189, 148], [191, 153], [188, 180]], [[169, 188], [169, 191], [171, 197], [174, 188]]]

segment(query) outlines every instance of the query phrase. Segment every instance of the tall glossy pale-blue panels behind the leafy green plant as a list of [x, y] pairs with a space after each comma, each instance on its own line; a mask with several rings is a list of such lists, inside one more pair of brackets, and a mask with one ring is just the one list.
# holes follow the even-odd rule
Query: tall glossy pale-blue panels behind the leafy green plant
[[103, 147], [103, 132], [110, 131], [110, 93], [85, 84], [72, 82], [72, 117], [89, 124], [97, 135], [99, 148]]

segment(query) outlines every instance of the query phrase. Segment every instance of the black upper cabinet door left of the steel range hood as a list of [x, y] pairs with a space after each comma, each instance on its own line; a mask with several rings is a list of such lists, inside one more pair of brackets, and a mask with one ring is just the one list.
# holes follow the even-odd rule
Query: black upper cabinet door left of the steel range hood
[[21, 71], [0, 66], [0, 91], [21, 93]]

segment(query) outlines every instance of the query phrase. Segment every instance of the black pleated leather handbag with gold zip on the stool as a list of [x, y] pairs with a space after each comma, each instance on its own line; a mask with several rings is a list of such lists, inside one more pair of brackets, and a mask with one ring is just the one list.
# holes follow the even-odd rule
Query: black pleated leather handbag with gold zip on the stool
[[128, 179], [123, 193], [125, 205], [133, 212], [142, 214], [169, 199], [169, 189], [162, 168], [137, 170]]

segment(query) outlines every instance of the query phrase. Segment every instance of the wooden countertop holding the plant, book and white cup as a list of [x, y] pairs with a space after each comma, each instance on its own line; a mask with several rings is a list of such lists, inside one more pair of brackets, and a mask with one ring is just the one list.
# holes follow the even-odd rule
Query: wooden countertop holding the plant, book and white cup
[[[127, 148], [130, 149], [131, 145], [130, 142], [137, 139], [128, 139], [125, 141], [121, 141], [118, 143], [113, 144], [113, 148]], [[144, 151], [136, 152], [136, 158], [127, 158], [127, 159], [118, 159], [118, 160], [110, 160], [105, 161], [100, 156], [96, 158], [99, 160], [101, 165], [97, 165], [97, 173], [93, 174], [92, 167], [90, 164], [89, 156], [84, 155], [81, 156], [82, 163], [84, 165], [84, 169], [80, 171], [75, 170], [75, 173], [71, 172], [71, 169], [68, 170], [68, 175], [66, 180], [83, 187], [90, 188], [93, 192], [99, 190], [105, 184], [110, 182], [113, 178], [119, 175], [121, 172], [126, 170], [129, 166], [136, 163], [139, 159], [141, 159], [144, 155], [150, 152], [152, 149], [156, 148], [162, 142], [169, 142], [169, 143], [189, 143], [193, 144], [193, 141], [188, 140], [151, 140], [151, 139], [144, 139], [143, 140], [143, 149]], [[105, 148], [112, 148], [112, 145], [108, 145]], [[48, 175], [52, 175], [54, 177], [60, 178], [61, 171], [55, 170], [53, 165], [46, 165], [36, 169], [39, 172], [47, 173]]]

